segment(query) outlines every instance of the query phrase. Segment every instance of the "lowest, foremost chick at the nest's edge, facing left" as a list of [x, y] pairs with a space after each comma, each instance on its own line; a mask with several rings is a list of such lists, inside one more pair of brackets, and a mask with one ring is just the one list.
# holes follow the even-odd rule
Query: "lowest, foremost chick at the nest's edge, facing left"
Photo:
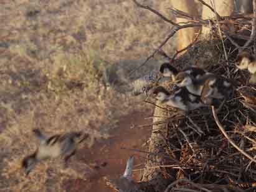
[[163, 86], [158, 86], [154, 89], [153, 94], [162, 103], [183, 111], [191, 111], [204, 106], [200, 97], [190, 93], [185, 87], [179, 88], [174, 94], [170, 94]]

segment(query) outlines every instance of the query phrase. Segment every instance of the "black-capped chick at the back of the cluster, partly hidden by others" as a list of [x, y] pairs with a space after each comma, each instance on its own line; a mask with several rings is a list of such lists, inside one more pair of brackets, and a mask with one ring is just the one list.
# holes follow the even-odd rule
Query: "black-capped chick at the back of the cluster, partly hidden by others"
[[[174, 68], [174, 66], [170, 65], [169, 63], [163, 63], [160, 66], [159, 71], [164, 77], [171, 77], [172, 81], [176, 81], [176, 76], [178, 75], [178, 73], [181, 72], [181, 71], [178, 71], [176, 68]], [[182, 70], [182, 72], [191, 75], [195, 79], [198, 79], [202, 75], [205, 75], [207, 73], [206, 71], [202, 70], [201, 68], [197, 68], [194, 66], [185, 68], [184, 70]]]

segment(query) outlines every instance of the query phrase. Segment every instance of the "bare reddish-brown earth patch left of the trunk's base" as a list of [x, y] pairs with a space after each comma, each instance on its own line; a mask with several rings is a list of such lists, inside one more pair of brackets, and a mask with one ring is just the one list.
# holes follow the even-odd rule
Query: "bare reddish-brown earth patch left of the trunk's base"
[[[106, 164], [105, 167], [95, 168], [96, 174], [90, 180], [68, 180], [65, 182], [66, 191], [113, 191], [106, 185], [104, 176], [107, 178], [118, 178], [125, 170], [126, 160], [135, 155], [135, 169], [143, 168], [146, 153], [138, 153], [130, 149], [146, 150], [146, 141], [149, 139], [151, 127], [131, 129], [133, 124], [150, 124], [151, 116], [136, 112], [120, 119], [118, 128], [113, 130], [111, 137], [102, 142], [96, 142], [92, 149], [85, 149], [85, 153], [80, 154], [81, 160], [93, 167], [93, 165]], [[138, 165], [138, 166], [136, 166]], [[133, 178], [140, 180], [140, 171], [135, 171]]]

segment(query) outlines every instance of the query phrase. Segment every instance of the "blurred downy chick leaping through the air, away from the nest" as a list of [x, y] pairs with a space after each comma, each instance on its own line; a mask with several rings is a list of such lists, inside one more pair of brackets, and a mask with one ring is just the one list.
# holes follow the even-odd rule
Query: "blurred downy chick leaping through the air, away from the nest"
[[22, 168], [25, 169], [26, 175], [40, 160], [62, 157], [66, 163], [75, 154], [77, 145], [88, 137], [88, 134], [83, 134], [82, 132], [69, 132], [50, 137], [42, 134], [39, 129], [34, 129], [33, 132], [37, 139], [40, 140], [40, 144], [36, 152], [22, 160]]

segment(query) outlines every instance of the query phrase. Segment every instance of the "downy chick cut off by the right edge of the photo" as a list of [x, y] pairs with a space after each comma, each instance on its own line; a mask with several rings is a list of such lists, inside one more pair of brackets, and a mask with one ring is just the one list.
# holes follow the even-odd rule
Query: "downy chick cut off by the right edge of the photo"
[[240, 70], [248, 70], [252, 76], [249, 83], [256, 85], [256, 60], [255, 57], [248, 52], [241, 52], [237, 58], [237, 68]]

